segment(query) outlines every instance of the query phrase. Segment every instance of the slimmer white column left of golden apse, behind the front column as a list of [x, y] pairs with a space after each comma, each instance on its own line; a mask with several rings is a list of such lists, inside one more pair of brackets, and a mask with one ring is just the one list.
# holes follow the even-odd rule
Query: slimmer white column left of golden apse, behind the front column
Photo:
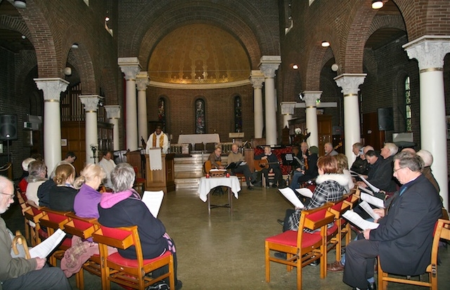
[[[136, 76], [136, 87], [138, 88], [138, 139], [148, 138], [147, 130], [147, 86], [150, 84], [147, 72], [139, 72]], [[145, 148], [144, 148], [145, 149]]]

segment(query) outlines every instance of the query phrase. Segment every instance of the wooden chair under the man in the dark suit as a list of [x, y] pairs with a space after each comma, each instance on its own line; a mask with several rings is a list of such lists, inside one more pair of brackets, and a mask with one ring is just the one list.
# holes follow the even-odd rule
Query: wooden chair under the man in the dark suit
[[428, 273], [428, 282], [405, 279], [398, 276], [389, 276], [387, 272], [383, 272], [383, 269], [381, 268], [380, 257], [378, 257], [378, 289], [387, 289], [387, 282], [394, 282], [416, 286], [425, 286], [429, 287], [431, 290], [437, 290], [437, 252], [439, 249], [439, 239], [450, 240], [449, 220], [437, 220], [432, 242], [431, 263], [426, 269], [426, 272]]

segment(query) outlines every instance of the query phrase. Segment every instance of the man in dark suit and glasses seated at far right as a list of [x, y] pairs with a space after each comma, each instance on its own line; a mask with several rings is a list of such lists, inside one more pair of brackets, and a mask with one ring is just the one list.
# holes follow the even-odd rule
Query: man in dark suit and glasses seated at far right
[[[343, 281], [354, 289], [373, 289], [375, 258], [383, 270], [396, 275], [420, 275], [430, 263], [432, 233], [442, 215], [435, 187], [422, 175], [423, 160], [411, 152], [394, 157], [394, 177], [402, 184], [386, 206], [378, 210], [380, 226], [364, 230], [345, 249]], [[412, 254], [413, 253], [413, 254]]]

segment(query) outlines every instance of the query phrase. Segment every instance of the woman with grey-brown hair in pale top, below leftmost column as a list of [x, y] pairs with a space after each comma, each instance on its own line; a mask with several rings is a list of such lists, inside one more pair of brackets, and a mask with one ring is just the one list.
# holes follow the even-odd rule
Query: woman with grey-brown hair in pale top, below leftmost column
[[35, 160], [28, 164], [28, 185], [27, 185], [27, 203], [39, 207], [39, 197], [37, 197], [37, 189], [44, 183], [47, 178], [47, 166], [41, 160]]

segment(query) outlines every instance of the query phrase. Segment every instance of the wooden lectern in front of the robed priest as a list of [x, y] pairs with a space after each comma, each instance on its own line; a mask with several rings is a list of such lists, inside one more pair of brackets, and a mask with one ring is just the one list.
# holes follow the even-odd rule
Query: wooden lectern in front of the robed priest
[[162, 169], [150, 170], [152, 161], [146, 154], [146, 190], [162, 190], [164, 193], [175, 191], [174, 156], [173, 153], [161, 154]]

